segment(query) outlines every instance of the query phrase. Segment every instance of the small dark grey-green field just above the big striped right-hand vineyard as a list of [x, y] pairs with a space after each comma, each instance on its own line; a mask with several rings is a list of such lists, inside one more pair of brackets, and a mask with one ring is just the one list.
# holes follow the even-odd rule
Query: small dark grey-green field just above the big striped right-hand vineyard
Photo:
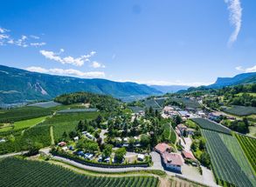
[[198, 124], [202, 129], [218, 131], [218, 132], [222, 132], [222, 133], [225, 133], [225, 134], [231, 134], [231, 130], [229, 130], [228, 128], [225, 128], [225, 127], [221, 126], [220, 124], [211, 122], [208, 119], [193, 118], [191, 120], [193, 122], [195, 122], [196, 124]]

